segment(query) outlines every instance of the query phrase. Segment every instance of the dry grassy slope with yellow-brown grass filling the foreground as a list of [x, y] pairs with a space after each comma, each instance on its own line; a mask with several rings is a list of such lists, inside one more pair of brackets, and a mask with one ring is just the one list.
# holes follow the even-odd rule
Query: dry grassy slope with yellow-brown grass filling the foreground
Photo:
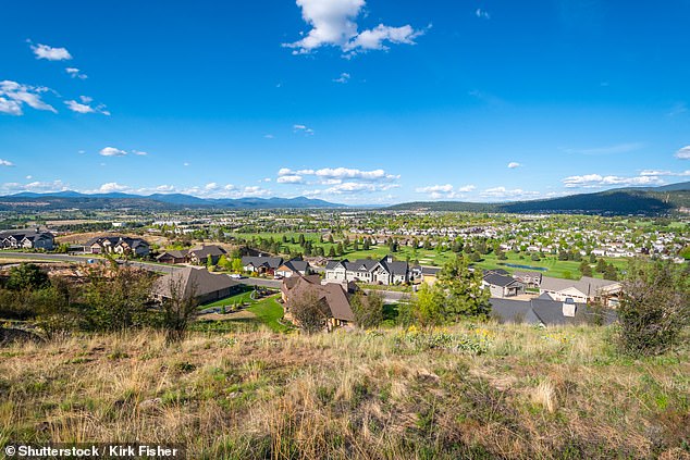
[[177, 442], [199, 459], [688, 452], [687, 348], [631, 360], [605, 328], [449, 333], [488, 337], [488, 350], [399, 345], [399, 330], [196, 334], [172, 348], [140, 333], [0, 349], [0, 447]]

